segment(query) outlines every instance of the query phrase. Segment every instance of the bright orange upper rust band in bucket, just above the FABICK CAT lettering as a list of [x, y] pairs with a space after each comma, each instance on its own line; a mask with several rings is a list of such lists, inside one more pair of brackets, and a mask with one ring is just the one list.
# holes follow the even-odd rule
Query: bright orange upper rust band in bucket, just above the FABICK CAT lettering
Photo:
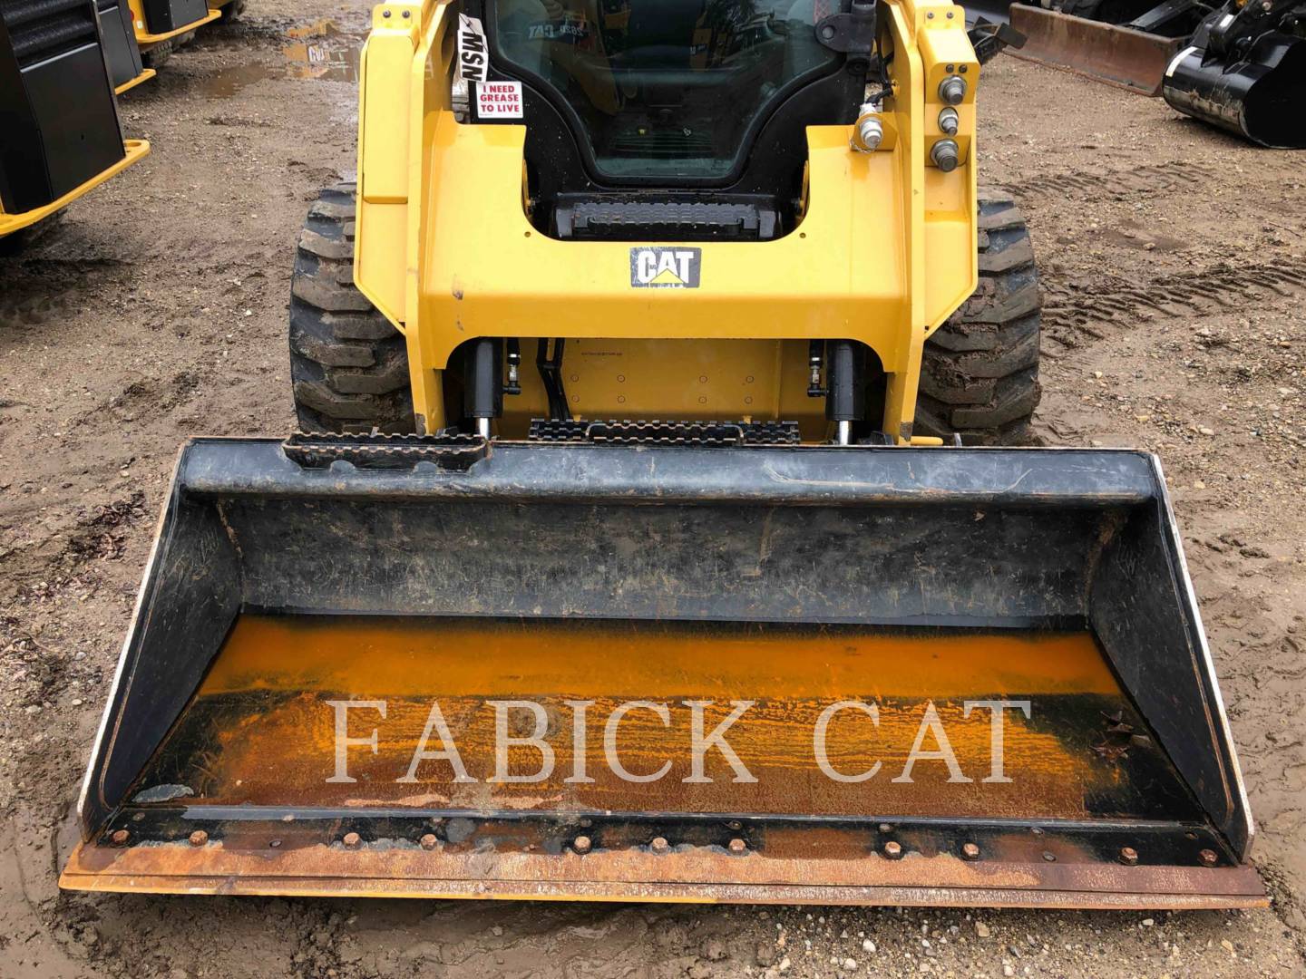
[[202, 694], [976, 697], [1119, 687], [1084, 632], [243, 615]]

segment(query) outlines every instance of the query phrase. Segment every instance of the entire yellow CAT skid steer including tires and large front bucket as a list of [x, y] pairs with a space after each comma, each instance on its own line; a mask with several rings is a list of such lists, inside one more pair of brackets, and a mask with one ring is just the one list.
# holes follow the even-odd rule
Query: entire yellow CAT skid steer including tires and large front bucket
[[377, 7], [63, 885], [1264, 903], [1157, 459], [1010, 448], [980, 89], [947, 0]]

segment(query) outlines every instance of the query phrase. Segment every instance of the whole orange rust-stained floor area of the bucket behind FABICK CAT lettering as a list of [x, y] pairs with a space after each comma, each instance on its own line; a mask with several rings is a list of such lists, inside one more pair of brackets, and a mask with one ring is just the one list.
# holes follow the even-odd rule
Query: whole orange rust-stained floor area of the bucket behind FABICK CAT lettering
[[[146, 781], [183, 781], [193, 804], [396, 805], [614, 812], [756, 812], [811, 815], [1019, 816], [1080, 818], [1085, 799], [1115, 774], [1085, 745], [1040, 730], [1040, 694], [1121, 697], [1093, 640], [1081, 633], [905, 634], [870, 629], [679, 627], [666, 623], [504, 623], [457, 619], [244, 616], [183, 715], [162, 764]], [[1034, 700], [1034, 722], [1008, 711], [1004, 768], [1011, 783], [986, 783], [987, 710], [963, 715], [966, 698]], [[377, 747], [349, 749], [357, 783], [328, 783], [336, 760], [336, 718], [326, 700], [383, 700], [385, 717], [350, 711], [349, 732]], [[495, 710], [488, 700], [529, 700], [546, 710], [551, 774], [534, 783], [490, 782], [495, 773]], [[586, 775], [576, 774], [573, 711], [590, 700]], [[633, 710], [619, 727], [620, 764], [649, 783], [618, 778], [603, 752], [603, 727], [622, 701], [666, 704], [670, 723]], [[713, 701], [705, 730], [731, 701], [754, 706], [727, 740], [756, 782], [735, 782], [717, 751], [705, 785], [691, 774], [691, 710]], [[879, 773], [841, 783], [815, 761], [814, 730], [836, 701], [875, 702], [879, 724], [844, 711], [829, 724], [828, 758], [844, 774]], [[948, 782], [943, 761], [918, 761], [912, 783], [893, 783], [921, 727], [926, 701], [938, 709], [970, 782]], [[447, 761], [410, 766], [432, 702], [439, 702], [474, 783], [454, 783]], [[515, 714], [513, 735], [529, 732]], [[427, 748], [438, 749], [434, 738]], [[932, 736], [925, 751], [939, 745]], [[157, 760], [158, 761], [158, 760]], [[541, 766], [535, 747], [508, 751], [508, 770]], [[155, 773], [171, 773], [166, 777]]]

